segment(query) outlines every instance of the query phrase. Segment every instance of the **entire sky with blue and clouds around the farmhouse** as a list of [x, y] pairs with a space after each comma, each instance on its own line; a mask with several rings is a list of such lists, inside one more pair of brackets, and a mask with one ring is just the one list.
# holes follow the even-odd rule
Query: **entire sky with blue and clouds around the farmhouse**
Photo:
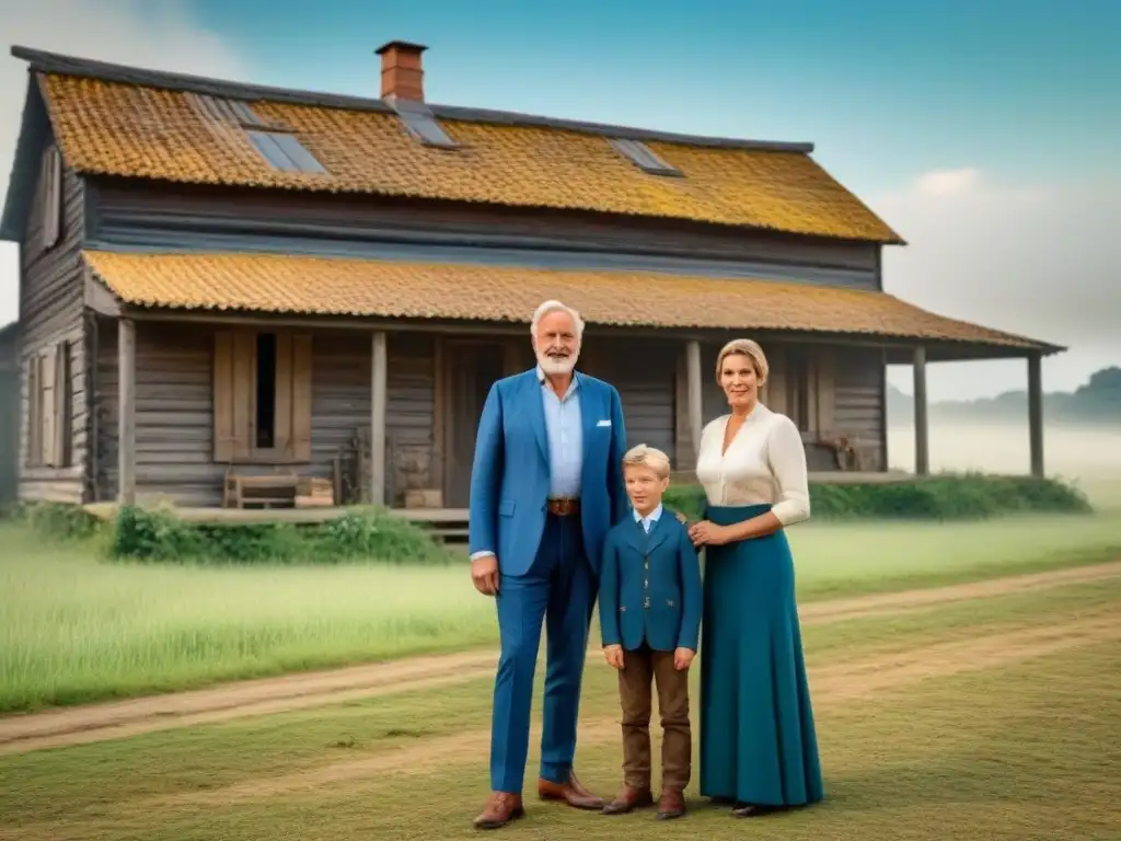
[[[124, 64], [377, 96], [374, 48], [406, 39], [429, 47], [434, 102], [809, 140], [908, 240], [884, 252], [889, 293], [1068, 346], [1048, 390], [1121, 364], [1121, 0], [0, 6], [7, 44]], [[26, 84], [4, 56], [2, 174]], [[0, 323], [17, 277], [0, 244]], [[1023, 385], [1022, 360], [929, 375], [933, 399]]]

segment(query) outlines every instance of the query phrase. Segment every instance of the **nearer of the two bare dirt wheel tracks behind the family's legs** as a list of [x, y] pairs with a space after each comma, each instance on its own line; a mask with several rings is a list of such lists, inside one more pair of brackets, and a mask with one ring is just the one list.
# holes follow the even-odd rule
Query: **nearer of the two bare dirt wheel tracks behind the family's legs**
[[[1121, 622], [1110, 614], [1037, 626], [1017, 631], [989, 634], [974, 639], [937, 643], [839, 663], [810, 674], [815, 709], [907, 688], [921, 681], [951, 677], [1012, 665], [1021, 660], [1057, 654], [1071, 648], [1121, 639]], [[613, 719], [581, 722], [581, 746], [618, 741], [619, 724]], [[535, 726], [530, 743], [540, 739]], [[444, 736], [420, 745], [395, 748], [376, 756], [334, 763], [277, 777], [240, 780], [223, 788], [160, 795], [131, 807], [143, 810], [175, 806], [226, 806], [245, 801], [298, 795], [334, 788], [340, 784], [379, 776], [430, 776], [456, 764], [478, 763], [490, 748], [490, 729]]]

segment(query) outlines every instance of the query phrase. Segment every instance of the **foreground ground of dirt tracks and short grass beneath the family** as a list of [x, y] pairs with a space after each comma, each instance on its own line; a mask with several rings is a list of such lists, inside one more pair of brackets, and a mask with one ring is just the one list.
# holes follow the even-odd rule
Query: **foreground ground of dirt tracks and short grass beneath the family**
[[[1112, 579], [807, 627], [825, 803], [734, 821], [694, 784], [689, 815], [666, 824], [531, 797], [502, 837], [1117, 839], [1119, 609]], [[538, 673], [535, 721], [540, 684]], [[0, 839], [478, 838], [491, 685], [0, 757]], [[619, 782], [617, 721], [614, 673], [592, 662], [577, 767], [605, 795]]]

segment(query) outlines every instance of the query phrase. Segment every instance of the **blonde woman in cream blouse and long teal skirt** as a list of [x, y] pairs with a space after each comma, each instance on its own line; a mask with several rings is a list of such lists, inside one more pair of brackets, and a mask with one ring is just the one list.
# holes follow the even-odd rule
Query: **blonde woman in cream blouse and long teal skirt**
[[731, 413], [701, 435], [706, 519], [701, 643], [701, 794], [750, 817], [824, 797], [794, 561], [782, 530], [809, 517], [806, 454], [786, 415], [759, 403], [767, 357], [729, 342], [716, 379]]

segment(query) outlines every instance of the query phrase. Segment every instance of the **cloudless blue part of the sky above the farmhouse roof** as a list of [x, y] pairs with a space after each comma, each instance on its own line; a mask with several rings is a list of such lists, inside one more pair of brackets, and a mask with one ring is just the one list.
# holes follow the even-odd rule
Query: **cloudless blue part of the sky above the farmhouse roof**
[[[200, 0], [271, 83], [377, 93], [371, 50], [426, 44], [435, 102], [813, 140], [865, 191], [937, 160], [1010, 178], [1117, 155], [1121, 2]], [[536, 8], [535, 8], [536, 7]], [[1058, 150], [1081, 147], [1077, 155]]]

